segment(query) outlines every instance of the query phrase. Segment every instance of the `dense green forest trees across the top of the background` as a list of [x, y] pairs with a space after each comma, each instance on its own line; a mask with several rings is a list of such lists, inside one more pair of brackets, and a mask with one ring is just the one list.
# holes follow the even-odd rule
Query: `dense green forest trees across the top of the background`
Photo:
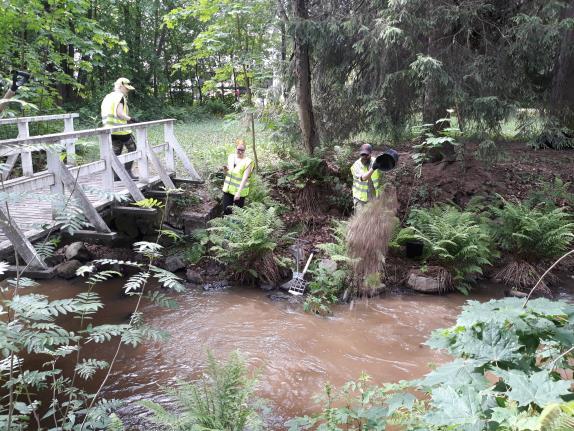
[[28, 70], [21, 98], [94, 125], [125, 76], [138, 118], [257, 101], [298, 122], [308, 152], [357, 131], [400, 138], [447, 109], [463, 131], [526, 128], [532, 112], [574, 128], [571, 1], [10, 0], [0, 37], [5, 84]]

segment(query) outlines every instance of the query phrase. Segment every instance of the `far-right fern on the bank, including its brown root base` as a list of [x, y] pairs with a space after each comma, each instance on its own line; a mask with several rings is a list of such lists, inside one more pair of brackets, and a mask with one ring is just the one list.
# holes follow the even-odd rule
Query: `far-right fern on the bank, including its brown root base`
[[[574, 238], [574, 223], [563, 208], [506, 200], [503, 203], [502, 208], [492, 208], [492, 235], [511, 258], [496, 277], [517, 289], [529, 289], [540, 278], [543, 265], [568, 250]], [[544, 282], [539, 288], [549, 293]]]

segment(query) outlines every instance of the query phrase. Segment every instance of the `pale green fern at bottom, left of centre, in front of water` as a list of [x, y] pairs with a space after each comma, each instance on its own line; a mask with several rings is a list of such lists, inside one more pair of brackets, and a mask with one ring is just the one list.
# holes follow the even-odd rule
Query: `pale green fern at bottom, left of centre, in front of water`
[[232, 353], [224, 364], [209, 353], [201, 380], [167, 391], [180, 411], [169, 412], [148, 400], [141, 404], [153, 413], [153, 422], [171, 430], [256, 430], [262, 429], [262, 420], [255, 385], [256, 379], [249, 375], [245, 361], [237, 353]]

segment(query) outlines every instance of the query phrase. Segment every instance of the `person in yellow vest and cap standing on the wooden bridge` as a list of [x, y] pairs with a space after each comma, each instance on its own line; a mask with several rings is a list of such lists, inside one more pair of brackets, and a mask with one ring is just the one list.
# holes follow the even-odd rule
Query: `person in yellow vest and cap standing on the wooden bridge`
[[[109, 93], [102, 101], [102, 123], [104, 127], [123, 126], [128, 123], [137, 123], [134, 117], [130, 117], [128, 108], [128, 93], [135, 88], [130, 84], [127, 78], [119, 78], [114, 83], [114, 91]], [[112, 148], [114, 154], [119, 156], [123, 148], [126, 147], [128, 152], [136, 150], [136, 142], [132, 131], [128, 129], [117, 130], [112, 132]], [[132, 162], [126, 163], [128, 174], [133, 179], [137, 177], [132, 172]], [[115, 180], [119, 178], [115, 176]]]

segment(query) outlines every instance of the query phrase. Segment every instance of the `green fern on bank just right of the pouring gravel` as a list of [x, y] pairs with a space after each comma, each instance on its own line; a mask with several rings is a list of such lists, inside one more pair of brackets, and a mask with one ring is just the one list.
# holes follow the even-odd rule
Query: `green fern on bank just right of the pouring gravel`
[[470, 283], [491, 264], [492, 240], [475, 214], [451, 205], [414, 209], [397, 242], [409, 240], [424, 244], [423, 261], [446, 271], [438, 271], [441, 290], [453, 288], [468, 293]]

